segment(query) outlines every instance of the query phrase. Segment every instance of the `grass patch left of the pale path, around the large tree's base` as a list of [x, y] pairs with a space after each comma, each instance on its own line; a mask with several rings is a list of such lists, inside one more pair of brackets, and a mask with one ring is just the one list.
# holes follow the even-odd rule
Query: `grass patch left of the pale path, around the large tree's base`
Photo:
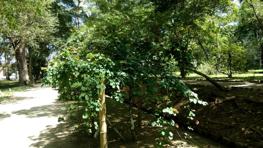
[[[13, 96], [15, 92], [21, 92], [32, 86], [33, 85], [18, 86], [18, 80], [0, 79], [0, 90], [4, 93], [4, 96], [0, 95], [0, 101], [5, 100], [10, 96]], [[11, 91], [9, 90], [9, 88], [11, 89]]]

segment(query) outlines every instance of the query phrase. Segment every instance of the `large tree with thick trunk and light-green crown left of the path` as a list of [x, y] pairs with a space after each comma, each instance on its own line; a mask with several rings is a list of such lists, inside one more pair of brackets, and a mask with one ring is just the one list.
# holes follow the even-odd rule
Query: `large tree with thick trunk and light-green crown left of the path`
[[[30, 80], [28, 78], [27, 62], [26, 62], [26, 46], [35, 46], [35, 39], [45, 38], [54, 31], [54, 24], [56, 23], [47, 6], [51, 1], [23, 1], [25, 8], [19, 7], [19, 11], [12, 11], [13, 19], [10, 17], [3, 17], [2, 27], [3, 32], [12, 41], [12, 46], [16, 52], [16, 60], [18, 63], [19, 84], [27, 85]], [[11, 3], [2, 2], [1, 5], [8, 6], [5, 11], [12, 9], [14, 6], [21, 3], [12, 1]], [[18, 6], [20, 6], [18, 5]], [[21, 5], [22, 6], [22, 5]], [[41, 7], [41, 9], [39, 9]], [[40, 13], [39, 10], [42, 10]], [[4, 14], [2, 14], [4, 15]]]

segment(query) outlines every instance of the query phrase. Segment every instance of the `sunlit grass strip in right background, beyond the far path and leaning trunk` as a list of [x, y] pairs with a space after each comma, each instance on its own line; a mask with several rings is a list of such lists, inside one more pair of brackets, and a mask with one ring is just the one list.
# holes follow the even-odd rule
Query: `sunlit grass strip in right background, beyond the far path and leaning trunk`
[[[218, 73], [214, 75], [208, 75], [210, 78], [216, 78], [216, 79], [225, 79], [225, 80], [242, 80], [242, 81], [249, 81], [249, 76], [253, 76], [252, 72], [263, 72], [263, 70], [249, 70], [249, 72], [242, 73], [242, 74], [235, 74], [232, 76], [232, 78], [228, 78], [227, 75]], [[176, 75], [180, 76], [180, 72], [176, 72]], [[254, 80], [263, 80], [263, 74], [255, 74], [255, 76], [262, 76], [261, 78], [255, 77]], [[196, 73], [189, 73], [186, 76], [186, 79], [202, 79], [203, 76], [200, 76]]]

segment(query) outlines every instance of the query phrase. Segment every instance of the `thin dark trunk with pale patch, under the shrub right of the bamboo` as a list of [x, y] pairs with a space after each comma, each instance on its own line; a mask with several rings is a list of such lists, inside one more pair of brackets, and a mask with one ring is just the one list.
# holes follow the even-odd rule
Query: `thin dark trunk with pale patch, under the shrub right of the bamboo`
[[131, 131], [131, 136], [132, 136], [132, 141], [137, 141], [136, 138], [136, 131], [135, 131], [135, 126], [134, 126], [134, 121], [132, 118], [132, 109], [133, 109], [133, 95], [132, 91], [129, 90], [129, 119], [130, 119], [130, 131]]

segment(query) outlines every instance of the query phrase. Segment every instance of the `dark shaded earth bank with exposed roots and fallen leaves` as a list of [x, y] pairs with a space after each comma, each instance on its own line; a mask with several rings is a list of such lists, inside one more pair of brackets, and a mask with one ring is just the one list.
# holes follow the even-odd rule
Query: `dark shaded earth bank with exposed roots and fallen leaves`
[[[191, 105], [195, 109], [195, 120], [191, 126], [243, 143], [253, 148], [263, 147], [263, 83], [218, 82], [229, 91], [221, 92], [204, 80], [183, 80], [199, 99], [207, 101], [208, 107]], [[178, 97], [174, 104], [179, 112], [187, 99]], [[185, 120], [187, 113], [177, 114], [176, 120]], [[199, 121], [199, 124], [196, 124]], [[203, 132], [204, 134], [204, 132]], [[208, 137], [211, 137], [209, 135]]]

